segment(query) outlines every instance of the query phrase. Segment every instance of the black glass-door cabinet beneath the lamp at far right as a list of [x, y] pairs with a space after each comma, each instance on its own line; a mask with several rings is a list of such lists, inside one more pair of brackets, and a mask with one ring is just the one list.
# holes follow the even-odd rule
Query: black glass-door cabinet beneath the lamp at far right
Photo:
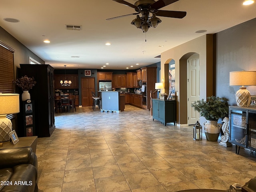
[[229, 142], [256, 151], [256, 108], [229, 107]]

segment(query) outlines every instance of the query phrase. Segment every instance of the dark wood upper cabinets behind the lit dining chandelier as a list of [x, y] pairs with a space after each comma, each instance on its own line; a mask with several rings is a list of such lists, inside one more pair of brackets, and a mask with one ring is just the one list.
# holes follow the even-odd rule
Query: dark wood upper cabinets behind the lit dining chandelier
[[65, 75], [64, 74], [55, 74], [54, 75], [54, 88], [55, 89], [78, 89], [78, 74], [67, 74], [66, 80], [71, 80], [70, 86], [61, 86], [60, 80], [64, 82]]

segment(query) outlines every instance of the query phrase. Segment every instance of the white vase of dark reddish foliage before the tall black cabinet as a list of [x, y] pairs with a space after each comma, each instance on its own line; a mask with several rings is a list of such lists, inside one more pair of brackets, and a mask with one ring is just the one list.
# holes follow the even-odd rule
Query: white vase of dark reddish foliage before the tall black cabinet
[[22, 101], [26, 101], [27, 99], [30, 99], [30, 93], [28, 92], [28, 90], [32, 89], [32, 87], [35, 86], [36, 84], [34, 77], [28, 77], [25, 75], [25, 76], [22, 76], [21, 78], [16, 79], [15, 83], [23, 91], [21, 95]]

